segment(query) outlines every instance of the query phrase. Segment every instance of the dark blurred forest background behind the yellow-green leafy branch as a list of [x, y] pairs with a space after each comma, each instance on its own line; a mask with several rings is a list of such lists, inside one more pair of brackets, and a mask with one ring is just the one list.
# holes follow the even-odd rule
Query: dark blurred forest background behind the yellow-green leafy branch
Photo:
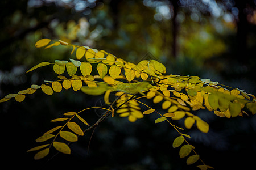
[[[3, 0], [0, 25], [0, 98], [43, 80], [55, 80], [50, 67], [24, 74], [39, 62], [75, 58], [64, 46], [36, 49], [42, 38], [103, 49], [126, 61], [155, 58], [167, 74], [197, 75], [256, 94], [256, 1], [254, 0]], [[146, 102], [146, 101], [145, 101]], [[152, 104], [147, 101], [147, 104]], [[37, 91], [22, 103], [0, 103], [2, 166], [27, 169], [195, 169], [172, 148], [178, 136], [157, 116], [130, 123], [108, 118], [71, 145], [72, 154], [56, 152], [35, 161], [26, 151], [35, 139], [57, 126], [49, 122], [65, 112], [104, 105], [102, 96], [63, 90], [52, 96]], [[160, 109], [160, 104], [154, 106]], [[89, 124], [101, 111], [83, 113]], [[204, 162], [216, 169], [254, 167], [256, 118], [196, 115], [210, 125], [203, 134], [185, 130]], [[184, 121], [175, 124], [184, 127]], [[81, 125], [82, 128], [86, 128]], [[89, 145], [90, 143], [90, 145]], [[89, 146], [89, 148], [88, 148]]]

